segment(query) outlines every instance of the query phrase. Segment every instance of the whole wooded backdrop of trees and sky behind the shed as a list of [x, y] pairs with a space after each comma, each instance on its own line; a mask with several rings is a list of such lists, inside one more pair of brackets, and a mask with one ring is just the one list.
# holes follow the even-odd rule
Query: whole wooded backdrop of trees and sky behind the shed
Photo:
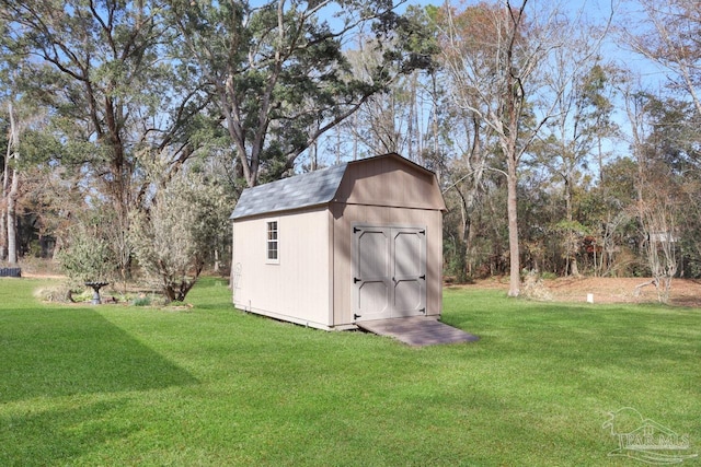
[[3, 265], [183, 300], [245, 187], [397, 152], [449, 280], [701, 277], [698, 1], [0, 0], [0, 30]]

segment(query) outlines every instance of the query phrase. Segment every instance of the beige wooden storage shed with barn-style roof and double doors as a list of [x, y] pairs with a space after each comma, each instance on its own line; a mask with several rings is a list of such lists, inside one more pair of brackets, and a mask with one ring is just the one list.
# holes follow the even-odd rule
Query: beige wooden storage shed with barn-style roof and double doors
[[233, 304], [321, 329], [438, 317], [445, 211], [435, 174], [393, 153], [248, 188]]

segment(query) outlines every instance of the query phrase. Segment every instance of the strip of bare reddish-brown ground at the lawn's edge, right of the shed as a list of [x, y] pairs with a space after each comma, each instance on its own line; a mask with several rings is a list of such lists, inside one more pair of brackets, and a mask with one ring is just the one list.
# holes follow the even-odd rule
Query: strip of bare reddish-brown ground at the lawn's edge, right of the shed
[[[594, 303], [657, 303], [654, 285], [637, 289], [648, 282], [645, 278], [560, 278], [543, 280], [543, 285], [555, 302], [586, 303], [593, 294]], [[468, 288], [498, 289], [508, 291], [508, 278], [476, 281]], [[675, 279], [671, 281], [669, 304], [675, 306], [701, 307], [701, 281]]]

